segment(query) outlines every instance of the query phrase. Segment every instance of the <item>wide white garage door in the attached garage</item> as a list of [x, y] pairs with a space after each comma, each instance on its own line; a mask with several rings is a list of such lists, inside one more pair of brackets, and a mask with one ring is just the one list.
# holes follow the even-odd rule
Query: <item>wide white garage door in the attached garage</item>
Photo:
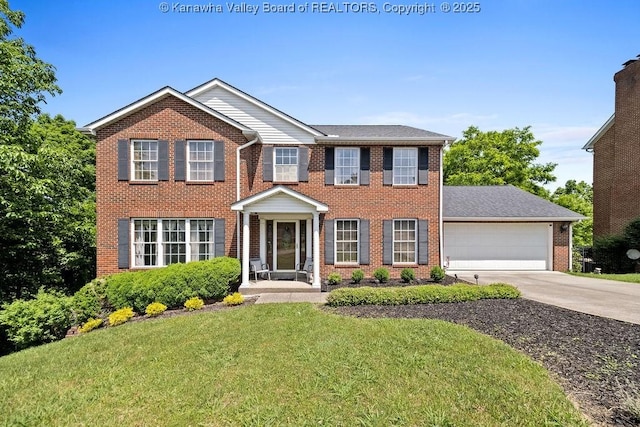
[[550, 223], [445, 223], [451, 270], [550, 270]]

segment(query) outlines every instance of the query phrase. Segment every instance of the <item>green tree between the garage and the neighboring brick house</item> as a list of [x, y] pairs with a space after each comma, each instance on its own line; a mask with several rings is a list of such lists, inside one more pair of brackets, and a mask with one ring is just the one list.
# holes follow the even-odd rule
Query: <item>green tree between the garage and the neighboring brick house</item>
[[593, 244], [593, 187], [584, 181], [569, 180], [564, 187], [554, 191], [550, 200], [589, 217], [573, 225], [573, 245], [591, 246]]

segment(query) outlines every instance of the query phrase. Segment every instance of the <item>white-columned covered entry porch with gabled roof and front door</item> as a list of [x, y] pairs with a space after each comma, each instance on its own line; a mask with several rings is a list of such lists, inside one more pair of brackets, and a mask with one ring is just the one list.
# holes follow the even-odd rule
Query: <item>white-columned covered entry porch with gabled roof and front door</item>
[[[327, 205], [279, 185], [239, 200], [231, 209], [240, 214], [242, 224], [241, 291], [267, 286], [251, 280], [251, 260], [258, 257], [274, 279], [294, 279], [296, 271], [310, 263], [311, 288], [320, 289], [320, 214], [329, 210]], [[252, 230], [252, 219], [259, 223], [257, 230]], [[305, 279], [306, 274], [298, 274], [298, 280]], [[283, 286], [282, 280], [276, 281]]]

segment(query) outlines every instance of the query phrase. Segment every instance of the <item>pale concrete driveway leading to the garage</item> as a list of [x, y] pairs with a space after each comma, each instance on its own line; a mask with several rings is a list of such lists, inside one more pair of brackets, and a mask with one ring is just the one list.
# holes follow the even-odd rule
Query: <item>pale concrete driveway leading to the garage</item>
[[556, 271], [447, 271], [460, 279], [515, 285], [522, 296], [582, 313], [640, 324], [640, 284], [577, 277]]

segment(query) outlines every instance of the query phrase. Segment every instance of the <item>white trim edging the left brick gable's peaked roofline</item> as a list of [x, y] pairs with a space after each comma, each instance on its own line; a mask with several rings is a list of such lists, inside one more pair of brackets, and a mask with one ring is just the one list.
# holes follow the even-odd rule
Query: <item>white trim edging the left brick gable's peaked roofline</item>
[[151, 105], [155, 102], [160, 101], [161, 99], [164, 99], [168, 96], [175, 96], [176, 98], [180, 99], [181, 101], [186, 102], [187, 104], [204, 111], [207, 114], [212, 115], [213, 117], [222, 120], [223, 122], [230, 124], [231, 126], [240, 129], [243, 132], [250, 132], [251, 129], [249, 129], [248, 127], [242, 125], [241, 123], [236, 122], [235, 120], [231, 119], [230, 117], [225, 116], [224, 114], [220, 114], [219, 112], [212, 110], [211, 108], [207, 107], [204, 104], [201, 104], [200, 102], [186, 96], [183, 93], [178, 92], [177, 90], [173, 89], [172, 87], [166, 86], [150, 95], [145, 96], [144, 98], [139, 99], [138, 101], [127, 105], [124, 108], [121, 108], [101, 119], [96, 120], [93, 123], [89, 123], [88, 125], [84, 126], [83, 129], [89, 130], [91, 132], [95, 132], [97, 129], [100, 129], [101, 127], [104, 127], [106, 125], [108, 125], [109, 123], [112, 123], [116, 120], [120, 120], [124, 117], [127, 117], [133, 113], [135, 113], [136, 111], [139, 111], [143, 108], [145, 108], [148, 105]]

